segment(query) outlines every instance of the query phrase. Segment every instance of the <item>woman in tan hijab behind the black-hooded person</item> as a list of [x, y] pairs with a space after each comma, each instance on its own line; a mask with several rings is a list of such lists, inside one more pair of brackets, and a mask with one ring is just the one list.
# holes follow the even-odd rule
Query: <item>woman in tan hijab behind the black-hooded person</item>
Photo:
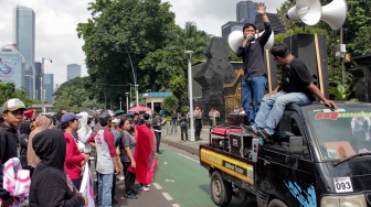
[[35, 134], [44, 131], [45, 129], [49, 129], [51, 124], [51, 120], [45, 116], [39, 116], [35, 120], [35, 129], [31, 131], [29, 137], [29, 145], [28, 145], [28, 164], [32, 168], [36, 167], [36, 165], [40, 163], [40, 157], [35, 154], [33, 148], [32, 148], [32, 140]]

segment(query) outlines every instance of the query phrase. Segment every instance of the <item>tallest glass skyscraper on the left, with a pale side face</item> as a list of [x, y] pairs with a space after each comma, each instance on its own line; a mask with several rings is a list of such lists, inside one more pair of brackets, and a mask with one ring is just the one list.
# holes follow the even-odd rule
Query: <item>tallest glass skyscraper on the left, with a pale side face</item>
[[35, 13], [32, 9], [17, 6], [13, 10], [13, 43], [25, 62], [25, 90], [35, 98]]

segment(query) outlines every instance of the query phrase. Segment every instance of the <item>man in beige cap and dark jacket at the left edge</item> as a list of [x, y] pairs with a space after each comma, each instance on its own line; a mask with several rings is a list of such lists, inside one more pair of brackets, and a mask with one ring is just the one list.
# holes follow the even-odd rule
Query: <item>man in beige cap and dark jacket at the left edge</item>
[[[19, 141], [17, 129], [24, 118], [24, 103], [18, 99], [9, 99], [2, 106], [3, 122], [0, 123], [0, 166], [12, 157], [19, 157]], [[0, 203], [9, 206], [13, 203], [10, 193], [3, 188], [3, 172], [0, 170]]]

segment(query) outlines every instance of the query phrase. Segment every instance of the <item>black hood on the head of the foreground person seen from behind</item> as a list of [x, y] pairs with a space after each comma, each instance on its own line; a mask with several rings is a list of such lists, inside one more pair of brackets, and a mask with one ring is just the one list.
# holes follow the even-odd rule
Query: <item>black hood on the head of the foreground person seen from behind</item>
[[64, 168], [66, 140], [62, 130], [46, 129], [32, 140], [32, 146], [41, 163], [55, 168]]

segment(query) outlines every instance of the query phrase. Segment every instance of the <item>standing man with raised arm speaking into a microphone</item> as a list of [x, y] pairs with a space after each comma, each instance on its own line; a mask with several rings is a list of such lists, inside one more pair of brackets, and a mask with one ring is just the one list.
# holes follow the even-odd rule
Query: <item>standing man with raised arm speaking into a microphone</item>
[[264, 45], [268, 42], [272, 34], [265, 4], [259, 3], [257, 8], [256, 12], [262, 17], [264, 22], [264, 32], [259, 37], [255, 39], [256, 26], [251, 23], [245, 24], [243, 26], [245, 40], [236, 51], [236, 55], [243, 59], [242, 105], [251, 123], [254, 123], [255, 116], [259, 110], [265, 94], [267, 78], [264, 62]]

